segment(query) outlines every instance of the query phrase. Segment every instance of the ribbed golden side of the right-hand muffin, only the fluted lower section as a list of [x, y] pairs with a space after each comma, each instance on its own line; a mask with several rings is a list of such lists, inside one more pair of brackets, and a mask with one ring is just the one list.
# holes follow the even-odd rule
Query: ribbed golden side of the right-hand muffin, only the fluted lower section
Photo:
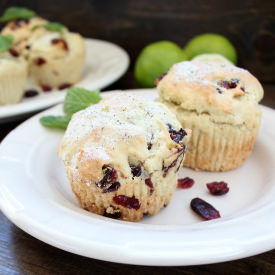
[[[245, 162], [257, 137], [258, 127], [251, 130], [234, 126], [212, 126], [209, 132], [192, 129], [183, 165], [213, 172], [232, 170]], [[244, 128], [244, 127], [243, 127]]]

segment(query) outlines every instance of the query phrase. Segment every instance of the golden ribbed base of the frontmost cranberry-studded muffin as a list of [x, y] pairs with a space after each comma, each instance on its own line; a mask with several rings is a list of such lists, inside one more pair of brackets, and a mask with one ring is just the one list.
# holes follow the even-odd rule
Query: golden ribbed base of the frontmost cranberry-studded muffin
[[[169, 204], [177, 186], [176, 169], [182, 162], [182, 158], [178, 159], [177, 165], [169, 170], [165, 178], [162, 178], [160, 172], [154, 173], [151, 178], [154, 186], [152, 193], [150, 193], [150, 188], [144, 181], [142, 182], [141, 178], [125, 179], [116, 192], [103, 193], [95, 184], [88, 186], [86, 182], [74, 182], [69, 169], [67, 169], [67, 173], [72, 191], [82, 208], [102, 216], [105, 215], [108, 208], [119, 209], [121, 220], [136, 222], [141, 220], [143, 215], [155, 215], [161, 208]], [[134, 196], [139, 200], [140, 208], [138, 210], [129, 209], [116, 204], [113, 198], [119, 195]]]

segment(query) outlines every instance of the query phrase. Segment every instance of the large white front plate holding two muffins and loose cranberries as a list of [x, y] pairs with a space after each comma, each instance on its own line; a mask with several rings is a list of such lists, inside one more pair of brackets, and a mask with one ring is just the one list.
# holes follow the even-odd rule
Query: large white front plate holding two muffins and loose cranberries
[[[154, 90], [130, 91], [148, 100]], [[104, 96], [110, 93], [104, 93]], [[196, 172], [190, 189], [176, 190], [154, 217], [130, 223], [82, 210], [71, 192], [56, 150], [63, 131], [38, 119], [61, 113], [56, 106], [24, 122], [0, 146], [0, 206], [18, 227], [58, 248], [106, 261], [141, 265], [195, 265], [247, 257], [275, 248], [275, 111], [263, 107], [259, 136], [244, 165], [230, 172]], [[224, 196], [205, 183], [228, 182]], [[222, 218], [201, 221], [190, 201], [201, 197]]]

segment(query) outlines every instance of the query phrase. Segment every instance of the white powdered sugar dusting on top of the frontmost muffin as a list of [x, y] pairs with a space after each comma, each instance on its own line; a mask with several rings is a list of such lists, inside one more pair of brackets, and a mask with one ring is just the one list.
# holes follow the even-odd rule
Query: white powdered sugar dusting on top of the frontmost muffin
[[81, 161], [84, 162], [92, 159], [108, 162], [110, 152], [119, 151], [125, 144], [132, 146], [133, 142], [142, 143], [147, 150], [147, 143], [152, 142], [153, 137], [165, 135], [163, 129], [167, 128], [167, 123], [174, 129], [181, 128], [175, 115], [164, 105], [118, 93], [72, 117], [61, 144], [60, 157], [75, 160], [76, 163], [71, 163], [76, 166], [76, 155], [68, 154], [71, 148], [82, 149]]

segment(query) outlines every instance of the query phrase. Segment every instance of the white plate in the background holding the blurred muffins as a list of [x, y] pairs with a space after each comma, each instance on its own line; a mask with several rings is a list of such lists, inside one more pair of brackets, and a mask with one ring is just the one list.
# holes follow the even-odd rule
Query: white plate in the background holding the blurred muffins
[[[107, 41], [97, 39], [85, 39], [86, 63], [83, 78], [75, 86], [102, 89], [120, 78], [129, 66], [129, 56], [119, 46]], [[19, 118], [27, 113], [45, 109], [64, 100], [66, 90], [52, 90], [41, 92], [41, 89], [28, 83], [26, 88], [39, 91], [39, 95], [32, 98], [24, 98], [14, 105], [0, 106], [0, 123]]]

